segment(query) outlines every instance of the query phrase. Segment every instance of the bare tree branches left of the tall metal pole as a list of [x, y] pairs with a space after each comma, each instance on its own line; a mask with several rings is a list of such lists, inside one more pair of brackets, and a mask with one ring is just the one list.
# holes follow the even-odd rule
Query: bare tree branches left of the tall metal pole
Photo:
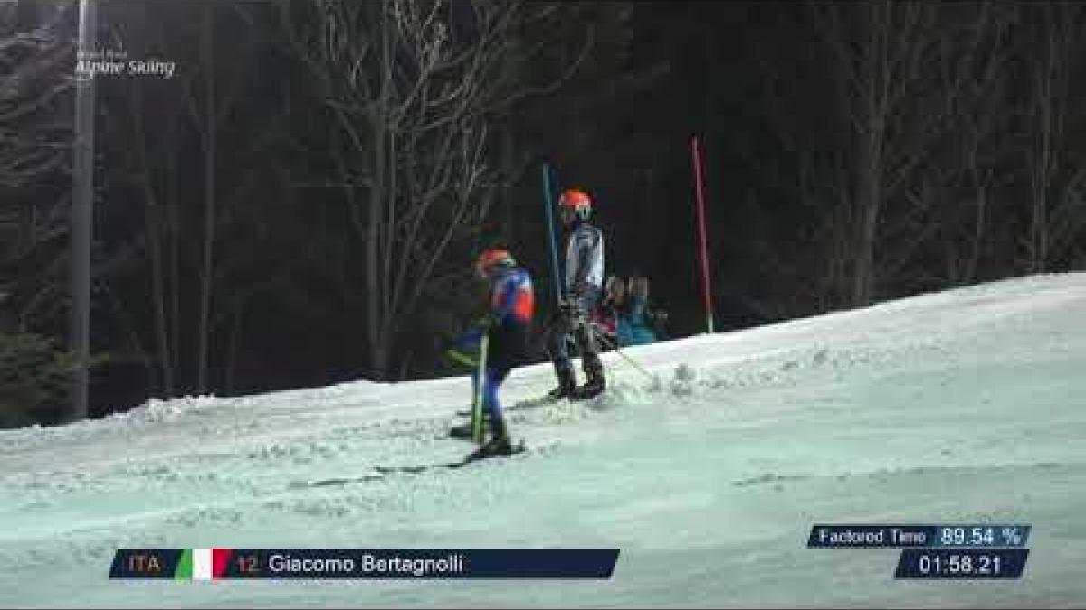
[[31, 191], [67, 170], [73, 45], [63, 34], [66, 7], [38, 11], [45, 23], [33, 26], [21, 23], [20, 8], [0, 5], [0, 292], [27, 328], [66, 301], [71, 200]]

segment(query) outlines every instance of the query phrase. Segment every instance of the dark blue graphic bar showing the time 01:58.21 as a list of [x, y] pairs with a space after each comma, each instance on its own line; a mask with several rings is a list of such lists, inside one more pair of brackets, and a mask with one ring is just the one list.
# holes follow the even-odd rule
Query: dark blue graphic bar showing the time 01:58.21
[[894, 577], [1013, 580], [1028, 557], [1027, 548], [906, 548]]

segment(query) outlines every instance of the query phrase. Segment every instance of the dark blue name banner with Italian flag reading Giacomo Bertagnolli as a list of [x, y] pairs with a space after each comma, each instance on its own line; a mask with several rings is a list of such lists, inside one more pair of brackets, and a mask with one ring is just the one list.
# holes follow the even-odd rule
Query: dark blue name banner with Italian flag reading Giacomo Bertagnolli
[[596, 579], [617, 548], [121, 548], [111, 579]]

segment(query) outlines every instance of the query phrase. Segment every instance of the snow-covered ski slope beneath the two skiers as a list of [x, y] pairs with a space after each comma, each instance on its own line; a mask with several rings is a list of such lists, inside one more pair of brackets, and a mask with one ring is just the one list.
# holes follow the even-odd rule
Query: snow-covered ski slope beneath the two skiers
[[[509, 409], [527, 454], [328, 487], [291, 483], [466, 454], [445, 433], [467, 379], [0, 431], [0, 606], [1081, 605], [1084, 320], [1086, 275], [1035, 276], [628, 348], [654, 380], [608, 353], [601, 399]], [[503, 399], [552, 383], [550, 365], [518, 369]], [[833, 521], [1033, 522], [1035, 550], [1016, 585], [909, 589], [895, 551], [804, 547]], [[518, 545], [623, 555], [602, 584], [104, 577], [121, 546]]]

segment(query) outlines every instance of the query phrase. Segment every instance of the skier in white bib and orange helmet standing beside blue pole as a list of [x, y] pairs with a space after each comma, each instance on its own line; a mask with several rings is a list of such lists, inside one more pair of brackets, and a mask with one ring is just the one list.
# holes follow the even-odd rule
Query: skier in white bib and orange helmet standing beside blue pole
[[[590, 398], [604, 391], [604, 366], [599, 360], [589, 316], [599, 305], [604, 280], [604, 236], [593, 226], [592, 199], [580, 189], [569, 189], [558, 200], [561, 224], [569, 232], [566, 245], [564, 297], [557, 318], [547, 330], [546, 345], [558, 386], [547, 394], [550, 399], [563, 397]], [[572, 335], [581, 354], [585, 383], [577, 386], [567, 339]]]

